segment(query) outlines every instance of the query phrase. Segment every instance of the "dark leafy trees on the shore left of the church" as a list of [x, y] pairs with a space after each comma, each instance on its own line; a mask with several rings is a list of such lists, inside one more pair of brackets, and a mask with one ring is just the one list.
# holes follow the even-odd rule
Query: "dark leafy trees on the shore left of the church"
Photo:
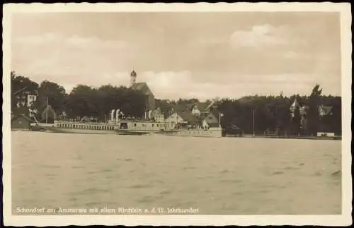
[[26, 95], [37, 95], [32, 109], [38, 111], [38, 118], [48, 104], [60, 115], [63, 112], [69, 119], [78, 116], [94, 116], [99, 121], [108, 119], [111, 109], [120, 109], [128, 116], [140, 117], [144, 114], [145, 97], [137, 90], [124, 86], [102, 85], [92, 88], [88, 85], [76, 85], [69, 93], [57, 83], [43, 81], [38, 85], [29, 78], [17, 76], [11, 72], [11, 111], [13, 114], [28, 114], [26, 105], [16, 104]]

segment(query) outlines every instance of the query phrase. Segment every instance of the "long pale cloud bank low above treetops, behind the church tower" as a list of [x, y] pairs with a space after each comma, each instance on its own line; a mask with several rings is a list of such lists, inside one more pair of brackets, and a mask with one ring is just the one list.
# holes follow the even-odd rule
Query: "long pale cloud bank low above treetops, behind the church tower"
[[[101, 84], [120, 82], [115, 85], [129, 85], [130, 73], [120, 72], [101, 79]], [[216, 76], [219, 73], [216, 73]], [[176, 100], [197, 97], [207, 100], [213, 97], [239, 98], [246, 95], [309, 94], [316, 81], [307, 74], [239, 75], [229, 83], [195, 80], [190, 71], [144, 71], [137, 72], [137, 82], [146, 82], [156, 98]], [[231, 77], [228, 77], [231, 78]], [[106, 80], [106, 81], [103, 81]], [[275, 86], [276, 85], [276, 86]]]

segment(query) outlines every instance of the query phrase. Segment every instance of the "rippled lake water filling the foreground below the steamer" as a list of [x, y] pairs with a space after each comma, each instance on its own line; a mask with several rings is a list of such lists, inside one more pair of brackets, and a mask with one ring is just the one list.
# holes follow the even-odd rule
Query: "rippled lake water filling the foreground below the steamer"
[[341, 214], [341, 141], [12, 131], [12, 208]]

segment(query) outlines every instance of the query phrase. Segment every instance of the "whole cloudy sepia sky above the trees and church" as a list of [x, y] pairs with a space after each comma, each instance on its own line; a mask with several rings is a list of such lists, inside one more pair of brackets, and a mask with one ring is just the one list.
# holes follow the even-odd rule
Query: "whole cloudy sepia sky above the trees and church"
[[338, 13], [22, 13], [11, 70], [70, 92], [129, 85], [155, 97], [341, 95]]

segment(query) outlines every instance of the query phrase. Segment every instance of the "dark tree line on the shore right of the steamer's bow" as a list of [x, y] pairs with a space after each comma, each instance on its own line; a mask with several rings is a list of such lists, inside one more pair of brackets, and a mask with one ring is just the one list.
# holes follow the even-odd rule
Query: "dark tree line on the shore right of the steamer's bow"
[[[307, 122], [306, 135], [316, 135], [326, 126], [330, 131], [341, 134], [341, 97], [321, 95], [319, 85], [316, 85], [309, 96], [292, 95], [291, 97], [279, 96], [251, 96], [239, 100], [224, 99], [219, 105], [219, 111], [224, 113], [222, 126], [236, 125], [245, 133], [256, 133], [278, 129], [282, 133], [301, 133], [301, 119], [299, 107], [295, 109], [294, 117], [290, 114], [290, 106], [295, 97], [300, 106], [307, 106], [304, 116]], [[332, 107], [332, 114], [319, 116], [319, 106]]]

